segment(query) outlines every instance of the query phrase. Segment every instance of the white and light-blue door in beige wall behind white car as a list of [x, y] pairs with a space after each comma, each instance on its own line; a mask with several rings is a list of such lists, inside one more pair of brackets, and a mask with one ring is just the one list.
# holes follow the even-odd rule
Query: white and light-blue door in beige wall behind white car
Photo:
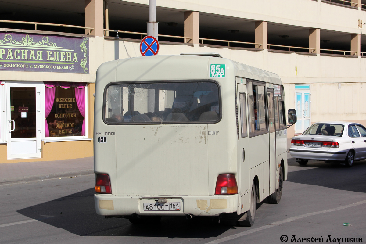
[[297, 122], [295, 133], [302, 133], [310, 126], [310, 85], [295, 85]]

